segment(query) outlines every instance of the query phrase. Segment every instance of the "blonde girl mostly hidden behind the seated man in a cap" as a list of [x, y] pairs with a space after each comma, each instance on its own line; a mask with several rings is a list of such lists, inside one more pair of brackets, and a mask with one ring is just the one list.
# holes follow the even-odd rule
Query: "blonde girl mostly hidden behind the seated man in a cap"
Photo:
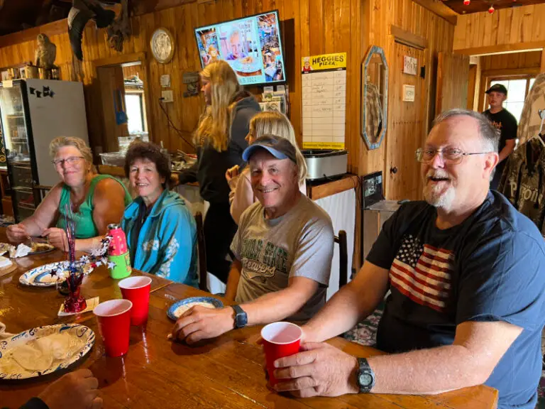
[[[253, 143], [255, 139], [266, 134], [286, 138], [295, 147], [297, 168], [299, 168], [299, 190], [304, 195], [307, 195], [307, 184], [305, 182], [307, 178], [307, 163], [304, 161], [301, 151], [297, 148], [295, 131], [290, 119], [287, 119], [287, 116], [278, 111], [265, 111], [253, 116], [250, 121], [250, 131], [246, 136], [248, 144]], [[241, 218], [244, 210], [248, 209], [253, 202], [257, 202], [250, 182], [250, 169], [246, 166], [242, 172], [239, 172], [238, 165], [236, 165], [227, 170], [225, 177], [227, 182], [229, 182], [229, 187], [231, 187], [231, 193], [229, 194], [231, 216], [235, 223], [238, 224], [238, 220]]]

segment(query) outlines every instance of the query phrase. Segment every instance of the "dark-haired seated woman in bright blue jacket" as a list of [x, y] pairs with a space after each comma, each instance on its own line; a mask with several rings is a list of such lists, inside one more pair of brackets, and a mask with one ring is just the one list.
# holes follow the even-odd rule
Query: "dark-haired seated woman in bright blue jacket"
[[125, 173], [138, 192], [121, 222], [131, 265], [197, 287], [197, 228], [185, 200], [167, 189], [170, 158], [153, 143], [135, 142], [127, 151]]

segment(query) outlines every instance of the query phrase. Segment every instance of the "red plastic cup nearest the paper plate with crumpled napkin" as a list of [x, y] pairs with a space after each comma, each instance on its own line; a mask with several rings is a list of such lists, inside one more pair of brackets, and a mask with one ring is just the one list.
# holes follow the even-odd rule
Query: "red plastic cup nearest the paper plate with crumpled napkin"
[[132, 307], [133, 303], [129, 300], [109, 300], [94, 307], [93, 313], [99, 322], [102, 342], [109, 356], [121, 356], [128, 351]]

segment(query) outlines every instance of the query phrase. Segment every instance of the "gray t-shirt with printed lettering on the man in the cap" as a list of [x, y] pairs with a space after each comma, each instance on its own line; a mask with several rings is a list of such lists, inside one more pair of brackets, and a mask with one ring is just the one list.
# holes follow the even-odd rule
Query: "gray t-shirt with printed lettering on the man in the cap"
[[309, 320], [325, 303], [331, 273], [334, 232], [329, 215], [304, 195], [289, 212], [265, 219], [260, 202], [241, 216], [231, 251], [242, 263], [236, 302], [283, 290], [290, 277], [306, 277], [319, 289], [292, 317]]

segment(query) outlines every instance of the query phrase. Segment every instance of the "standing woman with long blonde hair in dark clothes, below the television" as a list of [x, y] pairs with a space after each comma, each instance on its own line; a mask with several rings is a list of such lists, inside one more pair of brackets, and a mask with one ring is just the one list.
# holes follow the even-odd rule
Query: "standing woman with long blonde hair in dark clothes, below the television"
[[211, 62], [200, 73], [206, 108], [195, 132], [197, 163], [180, 175], [180, 183], [199, 182], [204, 200], [210, 203], [204, 219], [207, 269], [227, 282], [231, 261], [226, 259], [236, 224], [229, 212], [226, 170], [242, 165], [242, 153], [251, 118], [260, 111], [255, 98], [244, 91], [225, 61]]

